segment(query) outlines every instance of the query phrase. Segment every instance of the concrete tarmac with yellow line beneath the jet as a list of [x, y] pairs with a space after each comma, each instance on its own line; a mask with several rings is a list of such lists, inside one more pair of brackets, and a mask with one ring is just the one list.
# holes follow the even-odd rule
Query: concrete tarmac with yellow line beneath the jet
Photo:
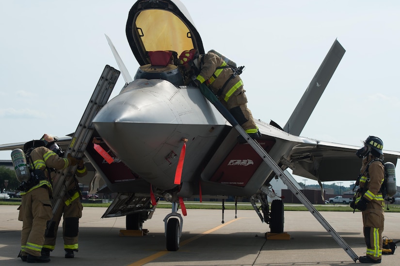
[[[0, 265], [24, 265], [16, 258], [20, 250], [18, 206], [0, 205]], [[80, 219], [79, 252], [65, 259], [62, 227], [53, 265], [121, 266], [344, 266], [355, 265], [352, 258], [326, 232], [308, 211], [285, 211], [285, 232], [289, 240], [265, 238], [269, 225], [262, 223], [253, 210], [224, 211], [188, 209], [178, 251], [165, 248], [163, 219], [170, 209], [157, 209], [144, 222], [144, 236], [120, 236], [125, 217], [101, 219], [106, 208], [85, 207]], [[181, 211], [179, 210], [179, 213]], [[321, 212], [352, 250], [366, 252], [360, 212]], [[237, 216], [237, 218], [235, 218]], [[385, 213], [384, 236], [400, 239], [400, 213]], [[359, 262], [357, 261], [357, 264]], [[369, 265], [369, 264], [365, 264]], [[380, 265], [400, 265], [400, 250], [383, 255]]]

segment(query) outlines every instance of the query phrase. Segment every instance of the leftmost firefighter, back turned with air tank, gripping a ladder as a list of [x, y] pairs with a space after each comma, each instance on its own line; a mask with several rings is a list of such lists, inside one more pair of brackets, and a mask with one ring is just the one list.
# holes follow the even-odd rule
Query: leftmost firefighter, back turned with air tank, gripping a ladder
[[22, 231], [18, 257], [29, 263], [45, 263], [50, 261], [48, 256], [41, 254], [46, 224], [52, 216], [50, 168], [64, 169], [69, 165], [76, 165], [79, 160], [70, 155], [68, 158], [61, 158], [39, 140], [25, 143], [23, 149], [25, 155], [30, 157], [28, 163], [33, 175], [28, 182], [20, 185], [22, 199], [18, 220], [22, 220]]

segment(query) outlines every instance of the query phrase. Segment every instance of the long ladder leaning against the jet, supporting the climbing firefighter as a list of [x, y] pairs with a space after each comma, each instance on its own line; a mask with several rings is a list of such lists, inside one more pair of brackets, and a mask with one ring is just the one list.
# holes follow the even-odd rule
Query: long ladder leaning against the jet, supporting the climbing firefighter
[[358, 256], [354, 253], [352, 248], [343, 240], [343, 238], [337, 234], [335, 229], [322, 217], [317, 209], [310, 203], [310, 201], [304, 196], [304, 194], [294, 185], [295, 180], [292, 176], [288, 176], [282, 169], [275, 163], [271, 156], [258, 144], [257, 141], [249, 137], [244, 129], [238, 124], [232, 114], [219, 102], [217, 97], [211, 93], [206, 85], [200, 85], [200, 91], [204, 94], [208, 100], [217, 108], [218, 111], [229, 121], [229, 123], [235, 127], [240, 135], [252, 146], [256, 153], [271, 167], [272, 171], [285, 183], [286, 186], [296, 195], [296, 197], [304, 204], [304, 206], [310, 211], [310, 213], [320, 222], [325, 230], [332, 235], [337, 244], [346, 251], [346, 253], [355, 262], [358, 260]]

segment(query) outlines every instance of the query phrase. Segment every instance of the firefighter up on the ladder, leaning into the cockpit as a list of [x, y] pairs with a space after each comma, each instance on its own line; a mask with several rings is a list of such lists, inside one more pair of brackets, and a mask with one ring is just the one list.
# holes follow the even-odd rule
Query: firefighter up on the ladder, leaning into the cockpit
[[[246, 91], [243, 89], [243, 81], [237, 69], [227, 65], [224, 59], [215, 53], [198, 55], [195, 49], [183, 51], [178, 63], [183, 66], [185, 72], [190, 73], [186, 74], [189, 77], [192, 74], [197, 75], [194, 80], [197, 86], [204, 83], [217, 95], [220, 102], [251, 138], [261, 137], [253, 115], [247, 108], [247, 97], [244, 94]], [[239, 136], [239, 141], [244, 142], [244, 139]]]

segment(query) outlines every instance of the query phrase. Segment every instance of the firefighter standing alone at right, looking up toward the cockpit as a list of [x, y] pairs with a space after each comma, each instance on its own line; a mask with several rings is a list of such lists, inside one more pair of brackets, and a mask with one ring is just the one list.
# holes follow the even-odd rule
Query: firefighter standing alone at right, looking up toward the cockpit
[[356, 182], [359, 186], [352, 207], [362, 211], [363, 232], [367, 255], [359, 258], [361, 263], [381, 263], [382, 233], [384, 231], [384, 198], [381, 185], [384, 182], [384, 143], [380, 138], [369, 136], [356, 155], [363, 158], [361, 174]]

